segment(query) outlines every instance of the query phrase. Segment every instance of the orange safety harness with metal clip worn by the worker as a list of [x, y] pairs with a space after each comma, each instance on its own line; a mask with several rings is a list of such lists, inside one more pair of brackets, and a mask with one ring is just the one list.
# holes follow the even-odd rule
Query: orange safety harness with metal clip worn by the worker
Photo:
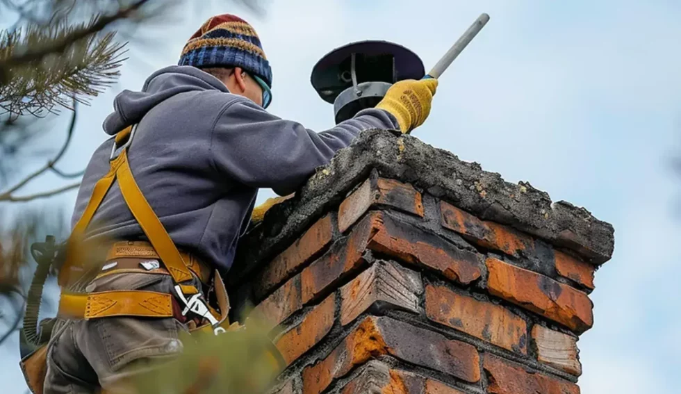
[[[174, 282], [174, 292], [183, 306], [181, 315], [192, 313], [202, 324], [190, 328], [193, 331], [212, 331], [218, 335], [226, 331], [238, 331], [244, 326], [237, 322], [229, 325], [227, 314], [229, 313], [229, 297], [224, 288], [222, 278], [218, 270], [212, 272], [212, 288], [215, 291], [217, 310], [208, 304], [199, 288], [195, 286], [195, 277], [203, 284], [208, 284], [210, 273], [206, 272], [206, 265], [202, 265], [190, 254], [182, 253], [168, 235], [149, 202], [133, 178], [128, 163], [128, 149], [135, 136], [136, 125], [129, 126], [115, 136], [115, 142], [110, 154], [110, 169], [95, 184], [90, 201], [83, 211], [83, 215], [76, 223], [71, 235], [66, 242], [66, 252], [58, 274], [58, 284], [62, 288], [57, 317], [71, 320], [91, 320], [108, 318], [113, 316], [137, 316], [140, 318], [171, 318], [174, 317], [173, 295], [146, 290], [111, 290], [95, 293], [81, 293], [74, 291], [78, 286], [88, 283], [83, 281], [87, 277], [85, 272], [88, 268], [83, 261], [88, 259], [82, 255], [82, 248], [77, 247], [79, 240], [83, 239], [85, 230], [92, 221], [97, 208], [104, 200], [108, 190], [117, 180], [121, 194], [129, 210], [142, 227], [149, 243], [146, 242], [122, 242], [116, 243], [109, 250], [106, 261], [113, 258], [149, 259], [151, 265], [145, 267], [149, 271], [167, 272]], [[56, 265], [57, 248], [54, 247], [54, 238], [46, 243], [32, 245], [31, 252], [38, 262], [38, 269], [31, 284], [28, 294], [26, 315], [24, 318], [24, 331], [26, 340], [33, 346], [37, 346], [31, 354], [22, 359], [20, 366], [26, 377], [29, 388], [33, 393], [42, 393], [42, 386], [46, 373], [47, 342], [51, 334], [54, 320], [40, 322], [38, 328], [38, 311], [40, 309], [40, 297], [42, 286], [47, 277], [50, 265]], [[156, 260], [157, 259], [157, 260]], [[156, 263], [159, 261], [163, 264]], [[112, 263], [113, 264], [113, 263]], [[106, 267], [106, 265], [105, 265]], [[120, 267], [117, 267], [120, 268]], [[117, 270], [121, 272], [121, 270]], [[192, 275], [192, 272], [194, 275]], [[272, 343], [268, 343], [268, 356], [272, 359], [274, 368], [281, 370], [286, 365], [281, 354]]]

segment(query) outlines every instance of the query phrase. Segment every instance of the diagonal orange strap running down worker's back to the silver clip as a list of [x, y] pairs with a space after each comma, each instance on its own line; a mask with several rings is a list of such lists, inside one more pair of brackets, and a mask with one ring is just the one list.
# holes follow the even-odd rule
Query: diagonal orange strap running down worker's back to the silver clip
[[128, 208], [133, 213], [133, 216], [142, 227], [149, 242], [156, 249], [156, 253], [161, 257], [163, 265], [167, 268], [172, 276], [175, 284], [182, 287], [182, 292], [185, 294], [196, 294], [199, 290], [195, 286], [183, 286], [182, 282], [192, 279], [192, 274], [187, 268], [187, 264], [183, 261], [182, 256], [175, 247], [175, 244], [170, 239], [167, 231], [163, 227], [161, 220], [154, 213], [154, 210], [149, 206], [149, 202], [142, 191], [140, 190], [128, 164], [127, 150], [124, 149], [119, 157], [122, 157], [122, 163], [116, 171], [118, 177], [118, 186], [120, 186], [121, 193], [125, 199]]

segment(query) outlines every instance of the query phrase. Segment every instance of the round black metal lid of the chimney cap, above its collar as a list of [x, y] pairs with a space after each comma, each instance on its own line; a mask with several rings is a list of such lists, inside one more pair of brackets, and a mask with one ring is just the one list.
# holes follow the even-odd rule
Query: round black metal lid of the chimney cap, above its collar
[[383, 40], [352, 42], [326, 54], [312, 70], [312, 86], [324, 101], [333, 104], [343, 90], [352, 87], [352, 54], [356, 54], [357, 83], [395, 83], [425, 76], [422, 60], [400, 44]]

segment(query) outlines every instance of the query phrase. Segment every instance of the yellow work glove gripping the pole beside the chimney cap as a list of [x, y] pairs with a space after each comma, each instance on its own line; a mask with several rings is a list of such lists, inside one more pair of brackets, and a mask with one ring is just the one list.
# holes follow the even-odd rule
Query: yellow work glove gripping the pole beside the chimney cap
[[376, 108], [393, 114], [402, 133], [409, 133], [425, 122], [438, 86], [437, 79], [405, 79], [392, 85]]

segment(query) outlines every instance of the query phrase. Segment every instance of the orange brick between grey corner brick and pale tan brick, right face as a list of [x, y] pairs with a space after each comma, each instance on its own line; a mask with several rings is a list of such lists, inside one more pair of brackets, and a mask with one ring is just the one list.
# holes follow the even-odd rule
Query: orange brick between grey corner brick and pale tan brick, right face
[[527, 323], [503, 306], [454, 293], [444, 286], [427, 286], [425, 298], [430, 320], [527, 354]]

